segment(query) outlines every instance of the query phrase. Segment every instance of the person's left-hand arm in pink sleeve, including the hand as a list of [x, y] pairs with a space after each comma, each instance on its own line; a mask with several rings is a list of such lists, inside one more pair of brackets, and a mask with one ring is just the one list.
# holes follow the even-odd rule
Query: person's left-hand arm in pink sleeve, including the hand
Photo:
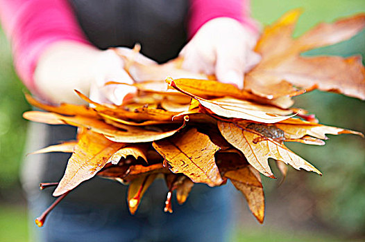
[[116, 89], [106, 80], [132, 83], [123, 62], [110, 50], [92, 46], [66, 0], [0, 0], [15, 68], [35, 95], [53, 103], [80, 103], [74, 89], [101, 102], [120, 104], [134, 88]]

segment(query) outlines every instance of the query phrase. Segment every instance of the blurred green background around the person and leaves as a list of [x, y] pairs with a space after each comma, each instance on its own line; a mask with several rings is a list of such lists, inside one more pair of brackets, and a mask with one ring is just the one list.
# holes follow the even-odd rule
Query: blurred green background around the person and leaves
[[[294, 36], [319, 23], [365, 12], [364, 0], [252, 0], [255, 19], [270, 24], [292, 8], [303, 8]], [[361, 54], [365, 31], [349, 41], [311, 50], [303, 55]], [[26, 121], [30, 107], [24, 86], [12, 67], [10, 44], [0, 31], [0, 241], [27, 241], [26, 203], [19, 183], [24, 158]], [[365, 102], [333, 93], [313, 91], [296, 97], [296, 106], [316, 113], [321, 123], [365, 133]], [[266, 221], [258, 225], [242, 198], [232, 241], [364, 241], [365, 142], [356, 136], [330, 137], [324, 147], [292, 145], [300, 156], [316, 165], [323, 176], [289, 169], [281, 186], [264, 178]], [[275, 165], [272, 162], [272, 167]], [[278, 172], [276, 173], [278, 174]], [[235, 192], [234, 195], [238, 195]]]

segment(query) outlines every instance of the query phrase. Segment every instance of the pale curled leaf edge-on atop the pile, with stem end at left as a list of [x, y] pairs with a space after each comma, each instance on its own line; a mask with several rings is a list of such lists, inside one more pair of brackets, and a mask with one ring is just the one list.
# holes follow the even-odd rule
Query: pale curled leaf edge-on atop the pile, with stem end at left
[[[255, 122], [274, 123], [286, 120], [294, 116], [294, 115], [282, 116], [275, 113], [260, 111], [259, 110], [260, 108], [258, 107], [260, 106], [260, 104], [254, 104], [253, 102], [248, 102], [244, 100], [230, 99], [229, 102], [225, 102], [222, 100], [219, 101], [206, 100], [201, 97], [197, 97], [192, 93], [188, 93], [187, 91], [180, 89], [180, 87], [176, 86], [174, 80], [172, 80], [171, 78], [167, 78], [166, 81], [174, 89], [198, 100], [198, 102], [202, 106], [212, 111], [212, 113], [215, 113], [219, 116], [223, 116], [226, 118], [239, 118], [239, 119], [253, 120]], [[262, 109], [266, 110], [266, 106], [262, 106]], [[275, 108], [273, 107], [273, 109]]]

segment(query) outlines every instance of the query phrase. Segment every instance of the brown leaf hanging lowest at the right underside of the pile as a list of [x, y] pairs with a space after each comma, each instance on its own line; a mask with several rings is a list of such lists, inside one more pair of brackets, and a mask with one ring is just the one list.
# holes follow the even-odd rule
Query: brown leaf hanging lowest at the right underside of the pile
[[244, 194], [248, 207], [260, 223], [264, 222], [265, 198], [264, 189], [262, 188], [260, 174], [255, 174], [255, 169], [250, 166], [228, 171], [224, 176], [229, 178], [235, 187]]

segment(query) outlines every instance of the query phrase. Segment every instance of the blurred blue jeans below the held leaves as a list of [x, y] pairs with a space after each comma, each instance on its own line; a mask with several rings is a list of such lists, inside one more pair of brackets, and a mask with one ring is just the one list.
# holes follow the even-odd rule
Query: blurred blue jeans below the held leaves
[[[127, 187], [120, 186], [126, 196]], [[33, 222], [35, 234], [37, 241], [47, 242], [226, 241], [231, 221], [226, 186], [195, 185], [184, 205], [173, 202], [172, 214], [162, 211], [161, 191], [167, 191], [164, 180], [155, 180], [134, 216], [128, 212], [126, 201], [119, 205], [92, 204], [92, 201], [81, 204], [65, 198], [49, 214], [44, 227], [37, 228]], [[49, 194], [38, 194], [29, 204], [31, 219], [40, 215], [53, 200]]]

